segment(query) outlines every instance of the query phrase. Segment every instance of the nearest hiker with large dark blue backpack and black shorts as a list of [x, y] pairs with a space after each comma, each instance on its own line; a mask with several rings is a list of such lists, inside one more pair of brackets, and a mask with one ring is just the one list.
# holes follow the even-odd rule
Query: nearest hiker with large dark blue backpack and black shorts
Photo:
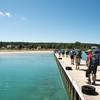
[[91, 83], [90, 80], [90, 74], [92, 74], [92, 79], [93, 79], [93, 85], [95, 85], [96, 81], [96, 72], [97, 72], [97, 60], [96, 60], [96, 55], [95, 52], [92, 52], [90, 56], [90, 64], [89, 64], [89, 77], [88, 77], [88, 82]]

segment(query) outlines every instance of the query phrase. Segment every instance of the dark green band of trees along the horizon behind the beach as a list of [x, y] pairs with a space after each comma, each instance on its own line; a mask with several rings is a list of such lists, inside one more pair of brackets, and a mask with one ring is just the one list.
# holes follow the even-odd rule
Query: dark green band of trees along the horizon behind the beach
[[91, 44], [91, 43], [32, 43], [32, 42], [0, 42], [0, 49], [72, 49], [80, 48], [82, 50], [87, 50], [91, 46], [97, 46], [100, 48], [100, 44]]

